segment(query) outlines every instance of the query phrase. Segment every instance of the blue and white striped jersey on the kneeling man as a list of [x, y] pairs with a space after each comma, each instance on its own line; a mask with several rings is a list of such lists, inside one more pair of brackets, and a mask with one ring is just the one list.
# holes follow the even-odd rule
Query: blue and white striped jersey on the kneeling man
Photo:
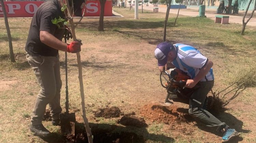
[[[196, 48], [184, 45], [184, 44], [174, 44], [177, 52], [177, 57], [171, 63], [176, 67], [186, 72], [191, 79], [199, 73], [200, 68], [202, 68], [207, 62], [208, 59], [203, 56], [203, 54]], [[213, 69], [205, 75], [205, 78], [202, 78], [200, 81], [214, 80]]]

